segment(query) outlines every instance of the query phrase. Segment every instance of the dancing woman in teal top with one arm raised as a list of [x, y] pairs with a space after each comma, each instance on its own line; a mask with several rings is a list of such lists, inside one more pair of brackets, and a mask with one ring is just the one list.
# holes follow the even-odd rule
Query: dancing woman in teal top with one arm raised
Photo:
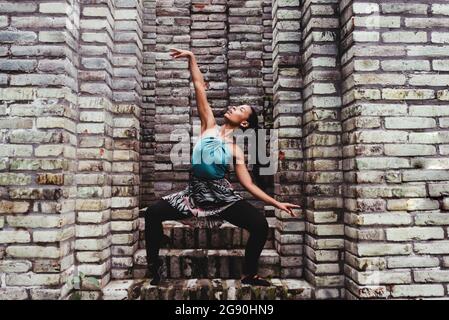
[[[249, 238], [245, 248], [243, 284], [269, 286], [271, 283], [257, 274], [258, 259], [268, 235], [265, 215], [235, 192], [224, 177], [231, 160], [235, 160], [235, 172], [241, 185], [256, 198], [263, 200], [295, 216], [291, 208], [299, 207], [279, 202], [257, 187], [245, 165], [242, 149], [231, 137], [235, 129], [258, 128], [256, 110], [249, 105], [232, 106], [224, 115], [225, 123], [218, 126], [206, 98], [206, 86], [191, 51], [170, 49], [171, 57], [187, 58], [195, 88], [196, 102], [201, 119], [200, 139], [192, 154], [192, 178], [188, 186], [179, 192], [162, 197], [148, 207], [145, 213], [145, 242], [151, 284], [161, 281], [162, 262], [158, 257], [163, 236], [162, 221], [194, 218], [195, 225], [219, 226], [223, 220], [247, 229]], [[207, 161], [204, 158], [209, 157]], [[196, 220], [195, 220], [196, 219]], [[190, 220], [192, 221], [192, 220]]]

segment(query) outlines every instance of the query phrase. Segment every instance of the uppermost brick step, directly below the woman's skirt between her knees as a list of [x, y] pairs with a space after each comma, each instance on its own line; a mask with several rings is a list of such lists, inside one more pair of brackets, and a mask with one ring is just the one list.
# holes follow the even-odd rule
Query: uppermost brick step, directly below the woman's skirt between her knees
[[[145, 220], [140, 221], [139, 248], [145, 248]], [[276, 218], [268, 217], [268, 232], [265, 249], [274, 249], [274, 229]], [[192, 228], [179, 221], [167, 220], [163, 223], [164, 238], [161, 248], [166, 249], [243, 249], [249, 232], [229, 222], [220, 228]]]

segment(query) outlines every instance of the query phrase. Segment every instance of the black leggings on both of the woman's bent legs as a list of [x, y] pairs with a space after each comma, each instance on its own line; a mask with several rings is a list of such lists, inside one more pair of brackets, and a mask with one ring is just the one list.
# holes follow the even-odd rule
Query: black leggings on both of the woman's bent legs
[[[245, 248], [243, 273], [255, 275], [258, 260], [268, 237], [268, 222], [265, 215], [247, 200], [239, 200], [219, 213], [219, 216], [231, 224], [249, 231]], [[145, 212], [145, 246], [148, 265], [159, 256], [163, 230], [162, 221], [186, 218], [166, 200], [160, 199], [149, 206]]]

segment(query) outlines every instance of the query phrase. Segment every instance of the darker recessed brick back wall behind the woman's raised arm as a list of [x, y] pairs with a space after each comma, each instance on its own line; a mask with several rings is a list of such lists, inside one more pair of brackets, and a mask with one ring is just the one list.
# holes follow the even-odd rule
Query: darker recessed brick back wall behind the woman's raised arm
[[[222, 124], [222, 116], [229, 105], [249, 103], [267, 110], [260, 120], [269, 128], [272, 79], [271, 46], [267, 44], [271, 42], [272, 32], [271, 24], [265, 23], [271, 20], [268, 15], [271, 3], [267, 1], [148, 3], [155, 6], [157, 17], [155, 115], [154, 124], [148, 122], [145, 125], [147, 130], [154, 130], [153, 188], [149, 191], [154, 201], [183, 189], [189, 179], [190, 158], [177, 165], [170, 161], [170, 150], [179, 143], [178, 140], [171, 141], [171, 134], [176, 130], [190, 134], [192, 139], [183, 142], [183, 147], [189, 151], [200, 129], [188, 62], [186, 59], [173, 60], [168, 54], [169, 49], [177, 47], [195, 53], [208, 84], [208, 100], [219, 124]], [[264, 10], [268, 13], [264, 14]], [[150, 166], [145, 162], [143, 165]], [[236, 183], [233, 173], [229, 178], [245, 197], [263, 207]], [[268, 191], [271, 192], [271, 188]]]

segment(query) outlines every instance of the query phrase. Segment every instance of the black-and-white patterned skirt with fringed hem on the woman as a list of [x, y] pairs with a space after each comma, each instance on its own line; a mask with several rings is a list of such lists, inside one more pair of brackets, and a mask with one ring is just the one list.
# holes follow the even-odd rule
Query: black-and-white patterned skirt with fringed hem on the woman
[[219, 213], [243, 197], [234, 191], [226, 178], [211, 180], [192, 175], [184, 190], [162, 199], [186, 215], [180, 222], [196, 227], [218, 228], [224, 222]]

